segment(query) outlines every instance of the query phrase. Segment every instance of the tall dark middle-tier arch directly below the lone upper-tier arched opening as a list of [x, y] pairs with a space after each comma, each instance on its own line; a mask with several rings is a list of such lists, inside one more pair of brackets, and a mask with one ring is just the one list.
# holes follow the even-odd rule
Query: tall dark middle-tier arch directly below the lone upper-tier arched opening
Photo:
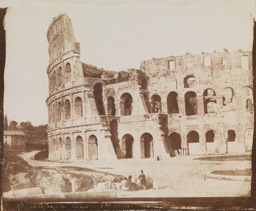
[[197, 97], [195, 92], [185, 93], [185, 114], [187, 116], [197, 114]]

